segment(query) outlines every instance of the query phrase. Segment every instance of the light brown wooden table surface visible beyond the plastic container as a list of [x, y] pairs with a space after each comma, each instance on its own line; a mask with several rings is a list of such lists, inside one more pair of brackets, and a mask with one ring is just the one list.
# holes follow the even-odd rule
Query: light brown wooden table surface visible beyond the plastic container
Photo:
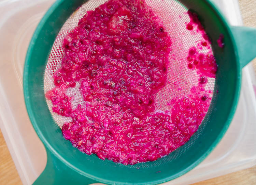
[[[256, 28], [256, 0], [239, 0], [239, 3], [240, 3], [241, 13], [244, 20], [244, 25]], [[256, 60], [254, 60], [253, 62], [254, 62], [254, 67], [256, 72]], [[0, 131], [0, 184], [1, 185], [22, 184], [1, 131]], [[249, 169], [241, 170], [238, 172], [230, 173], [227, 175], [219, 176], [217, 178], [198, 182], [198, 183], [195, 183], [194, 185], [214, 185], [214, 184], [225, 184], [225, 185], [235, 185], [235, 184], [254, 185], [255, 184], [256, 185], [256, 166]]]

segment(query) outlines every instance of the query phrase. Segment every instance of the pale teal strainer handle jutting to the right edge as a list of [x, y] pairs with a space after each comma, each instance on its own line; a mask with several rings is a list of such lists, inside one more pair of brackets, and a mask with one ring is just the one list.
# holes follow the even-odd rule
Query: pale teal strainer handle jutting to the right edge
[[241, 68], [256, 57], [256, 29], [247, 27], [231, 27]]

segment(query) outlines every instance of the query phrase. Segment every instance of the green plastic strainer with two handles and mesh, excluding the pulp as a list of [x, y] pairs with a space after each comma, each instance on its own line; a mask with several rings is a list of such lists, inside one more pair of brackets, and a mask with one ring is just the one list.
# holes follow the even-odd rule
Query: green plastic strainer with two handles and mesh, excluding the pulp
[[[213, 150], [236, 110], [241, 69], [256, 56], [256, 30], [230, 27], [209, 0], [146, 0], [146, 4], [159, 13], [167, 28], [168, 25], [176, 28], [170, 29], [169, 34], [172, 39], [176, 39], [173, 43], [179, 49], [180, 62], [186, 63], [182, 59], [185, 56], [182, 51], [193, 46], [196, 39], [182, 34], [182, 28], [185, 28], [185, 21], [188, 20], [188, 16], [184, 16], [187, 10], [198, 14], [212, 39], [211, 47], [218, 71], [215, 82], [210, 83], [214, 94], [207, 116], [185, 145], [154, 162], [125, 166], [109, 160], [102, 161], [96, 155], [89, 156], [72, 147], [62, 137], [58, 127], [63, 123], [62, 118], [49, 111], [49, 103], [47, 105], [45, 100], [45, 90], [52, 88], [51, 80], [47, 79], [51, 79], [54, 72], [48, 70], [48, 66], [56, 69], [60, 64], [63, 51], [58, 48], [61, 46], [58, 43], [62, 43], [64, 33], [74, 28], [86, 11], [93, 10], [105, 1], [57, 0], [32, 37], [24, 67], [24, 96], [30, 120], [47, 151], [47, 165], [34, 184], [158, 184], [170, 181], [193, 169]], [[224, 48], [219, 48], [216, 42], [220, 34], [224, 36]], [[171, 61], [172, 69], [175, 69], [176, 63], [176, 60]], [[184, 74], [184, 71], [177, 72]], [[189, 83], [185, 82], [190, 82], [190, 85], [195, 82], [195, 77], [186, 71], [182, 77], [188, 87]]]

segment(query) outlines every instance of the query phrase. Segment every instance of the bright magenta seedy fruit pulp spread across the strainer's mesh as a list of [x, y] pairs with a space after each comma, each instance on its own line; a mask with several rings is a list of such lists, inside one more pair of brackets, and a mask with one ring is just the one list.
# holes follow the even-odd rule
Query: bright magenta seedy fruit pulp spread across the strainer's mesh
[[[185, 144], [208, 111], [211, 97], [204, 87], [217, 67], [213, 55], [191, 47], [188, 68], [198, 69], [198, 85], [171, 100], [170, 110], [155, 110], [155, 94], [167, 83], [171, 44], [144, 1], [110, 0], [88, 11], [64, 39], [55, 87], [45, 95], [54, 113], [72, 118], [63, 124], [63, 137], [86, 154], [125, 165], [154, 161]], [[66, 90], [78, 84], [84, 104], [72, 107]]]

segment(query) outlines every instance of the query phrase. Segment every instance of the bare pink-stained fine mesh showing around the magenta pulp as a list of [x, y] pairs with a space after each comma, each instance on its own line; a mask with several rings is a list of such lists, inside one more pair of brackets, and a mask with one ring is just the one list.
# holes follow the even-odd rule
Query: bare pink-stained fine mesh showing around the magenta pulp
[[[79, 20], [87, 11], [94, 10], [106, 1], [107, 0], [87, 1], [65, 22], [58, 33], [49, 54], [44, 75], [44, 92], [54, 87], [53, 74], [60, 68], [64, 56], [64, 49], [62, 48], [63, 39], [77, 26]], [[186, 29], [186, 23], [190, 21], [190, 18], [187, 14], [186, 7], [180, 2], [175, 0], [145, 0], [145, 3], [150, 6], [162, 20], [172, 41], [167, 70], [167, 85], [156, 94], [155, 98], [156, 110], [166, 111], [171, 109], [168, 102], [173, 98], [188, 95], [191, 87], [197, 86], [198, 84], [199, 74], [196, 69], [188, 69], [186, 58], [189, 48], [192, 46], [197, 47], [201, 43], [202, 35], [196, 31], [188, 31]], [[209, 51], [212, 52], [211, 47], [200, 50], [200, 53], [208, 53]], [[214, 78], [208, 78], [208, 83], [204, 88], [213, 91], [214, 83]], [[70, 97], [74, 97], [71, 102], [73, 107], [76, 107], [78, 104], [83, 106], [84, 101], [79, 89], [79, 83], [76, 84], [75, 88], [67, 89], [66, 94]], [[46, 102], [49, 111], [60, 128], [62, 128], [62, 125], [65, 122], [72, 121], [72, 118], [70, 117], [64, 117], [57, 113], [53, 113], [52, 102], [50, 100], [47, 100]], [[208, 115], [209, 112], [210, 110], [208, 110]], [[205, 119], [207, 119], [207, 117], [205, 117]]]

